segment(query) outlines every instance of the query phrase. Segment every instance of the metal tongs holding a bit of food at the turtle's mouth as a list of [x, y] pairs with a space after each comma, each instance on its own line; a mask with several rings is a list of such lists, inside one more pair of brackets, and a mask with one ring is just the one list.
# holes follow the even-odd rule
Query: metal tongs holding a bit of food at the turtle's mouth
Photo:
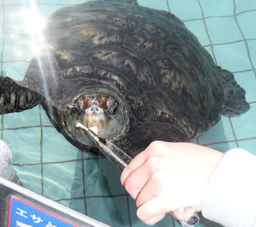
[[[127, 165], [131, 162], [131, 160], [133, 160], [120, 148], [114, 145], [114, 143], [111, 143], [107, 139], [97, 137], [97, 135], [90, 128], [87, 128], [80, 123], [77, 123], [76, 127], [84, 128], [84, 130], [86, 130], [86, 134], [95, 142], [99, 150], [114, 164], [116, 164], [116, 166], [119, 167], [121, 170], [125, 169], [125, 167], [127, 167]], [[171, 212], [169, 212], [168, 214], [174, 217], [176, 221], [180, 222], [182, 227], [195, 226], [199, 222], [197, 212], [191, 207], [183, 207], [176, 211], [183, 213], [184, 210], [187, 211], [186, 213], [189, 214], [186, 220], [178, 220], [178, 218], [176, 218]]]

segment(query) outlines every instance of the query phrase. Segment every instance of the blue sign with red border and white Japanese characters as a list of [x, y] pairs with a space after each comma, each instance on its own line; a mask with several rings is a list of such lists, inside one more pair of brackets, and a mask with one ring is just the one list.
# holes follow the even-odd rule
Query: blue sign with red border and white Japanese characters
[[10, 198], [8, 227], [77, 227], [18, 198]]

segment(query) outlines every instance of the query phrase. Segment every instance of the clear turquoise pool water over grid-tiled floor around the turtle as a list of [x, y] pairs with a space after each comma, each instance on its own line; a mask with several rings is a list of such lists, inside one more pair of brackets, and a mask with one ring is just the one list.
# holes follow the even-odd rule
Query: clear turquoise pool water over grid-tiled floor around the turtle
[[[22, 80], [37, 51], [35, 33], [43, 21], [60, 7], [82, 2], [0, 0], [0, 71], [3, 75]], [[215, 63], [234, 72], [236, 81], [246, 90], [251, 109], [240, 117], [222, 117], [193, 143], [221, 152], [242, 147], [256, 155], [256, 1], [138, 2], [176, 14]], [[37, 105], [0, 118], [1, 139], [14, 154], [12, 166], [25, 188], [110, 226], [146, 226], [136, 217], [135, 202], [120, 184], [121, 171], [107, 159], [80, 152], [67, 142], [50, 124], [42, 107]], [[155, 226], [179, 224], [165, 217]]]

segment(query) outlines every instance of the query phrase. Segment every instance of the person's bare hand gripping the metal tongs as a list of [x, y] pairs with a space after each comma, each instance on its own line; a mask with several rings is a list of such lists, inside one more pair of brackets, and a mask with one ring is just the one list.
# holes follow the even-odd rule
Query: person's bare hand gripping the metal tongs
[[192, 207], [201, 211], [208, 180], [223, 153], [193, 143], [154, 141], [135, 156], [121, 175], [121, 183], [136, 200], [137, 215], [153, 225], [176, 210]]

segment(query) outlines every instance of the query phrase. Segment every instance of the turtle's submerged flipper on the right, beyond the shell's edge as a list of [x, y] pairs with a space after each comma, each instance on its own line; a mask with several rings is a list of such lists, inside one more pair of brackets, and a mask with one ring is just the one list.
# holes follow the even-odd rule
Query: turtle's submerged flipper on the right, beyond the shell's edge
[[250, 109], [249, 103], [245, 100], [245, 90], [236, 83], [233, 73], [221, 67], [219, 69], [225, 89], [225, 103], [222, 114], [227, 117], [240, 116]]

